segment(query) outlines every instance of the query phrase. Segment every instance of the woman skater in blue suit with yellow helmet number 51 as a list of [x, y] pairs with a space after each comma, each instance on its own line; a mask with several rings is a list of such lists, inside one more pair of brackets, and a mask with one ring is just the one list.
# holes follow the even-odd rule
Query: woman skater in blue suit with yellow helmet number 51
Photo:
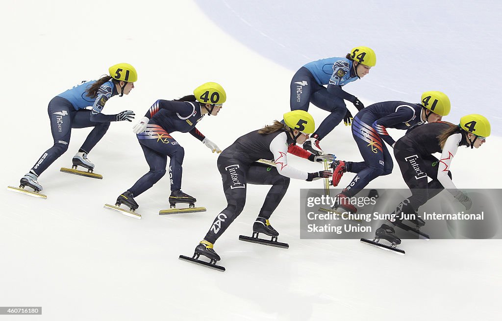
[[[82, 82], [52, 98], [48, 114], [54, 145], [40, 156], [30, 172], [21, 179], [21, 187], [29, 186], [37, 192], [42, 190], [38, 177], [68, 149], [72, 128], [94, 127], [72, 159], [74, 168], [82, 166], [92, 172], [94, 164], [89, 161], [87, 154], [104, 136], [110, 122], [132, 121], [135, 115], [132, 110], [115, 115], [104, 115], [101, 111], [111, 97], [121, 97], [131, 92], [134, 82], [138, 80], [136, 69], [130, 64], [120, 63], [111, 66], [108, 71], [109, 76]], [[85, 109], [90, 106], [91, 110]]]

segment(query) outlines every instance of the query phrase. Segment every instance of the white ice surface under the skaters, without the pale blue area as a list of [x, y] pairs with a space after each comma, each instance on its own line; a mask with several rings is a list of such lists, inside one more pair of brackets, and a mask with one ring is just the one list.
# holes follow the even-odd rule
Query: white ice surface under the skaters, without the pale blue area
[[[141, 221], [102, 208], [148, 171], [129, 122], [112, 123], [89, 154], [102, 181], [59, 172], [90, 131], [76, 129], [68, 152], [40, 177], [47, 200], [7, 191], [52, 145], [49, 100], [112, 64], [133, 64], [139, 81], [129, 96], [110, 99], [107, 114], [133, 109], [138, 118], [156, 99], [190, 94], [205, 81], [221, 83], [227, 102], [218, 117], [205, 117], [198, 126], [220, 148], [282, 118], [293, 71], [223, 33], [191, 1], [18, 1], [2, 9], [0, 306], [42, 306], [43, 314], [0, 319], [499, 319], [500, 240], [406, 240], [405, 256], [357, 240], [300, 240], [299, 189], [321, 188], [319, 182], [292, 182], [271, 218], [289, 249], [237, 240], [249, 234], [268, 191], [249, 186], [244, 211], [215, 245], [227, 271], [178, 260], [192, 253], [226, 206], [216, 154], [189, 134], [174, 134], [186, 152], [183, 190], [206, 213], [160, 217], [167, 178], [137, 198]], [[405, 66], [394, 68], [400, 77]], [[361, 81], [359, 92], [366, 84], [371, 88]], [[455, 97], [458, 90], [448, 94]], [[326, 115], [310, 111], [319, 120]], [[452, 167], [459, 188], [500, 186], [500, 142], [494, 136], [480, 149], [459, 150]], [[343, 125], [322, 146], [340, 159], [361, 159]], [[291, 162], [320, 170], [302, 159]], [[340, 186], [350, 179], [343, 177]], [[405, 187], [398, 168], [368, 186]]]

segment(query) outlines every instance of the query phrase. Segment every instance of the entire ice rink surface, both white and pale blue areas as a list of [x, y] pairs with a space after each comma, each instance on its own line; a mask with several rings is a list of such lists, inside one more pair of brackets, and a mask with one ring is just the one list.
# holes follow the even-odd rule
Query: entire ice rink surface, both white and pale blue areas
[[[42, 306], [42, 320], [498, 320], [500, 240], [405, 240], [405, 256], [358, 240], [300, 239], [300, 189], [291, 181], [271, 217], [289, 249], [239, 241], [250, 235], [268, 187], [248, 185], [244, 211], [216, 242], [224, 273], [178, 259], [191, 256], [225, 208], [217, 155], [190, 134], [182, 190], [207, 212], [159, 216], [168, 208], [164, 177], [136, 200], [142, 220], [103, 208], [148, 172], [129, 122], [113, 122], [89, 153], [94, 180], [59, 172], [90, 131], [74, 129], [67, 153], [39, 183], [47, 200], [9, 192], [52, 145], [47, 104], [108, 67], [128, 62], [139, 79], [131, 94], [103, 109], [143, 116], [157, 99], [175, 99], [214, 81], [227, 101], [197, 128], [223, 149], [289, 111], [291, 77], [303, 64], [368, 46], [377, 64], [344, 90], [366, 106], [418, 102], [445, 92], [458, 123], [485, 115], [492, 136], [479, 149], [459, 148], [452, 164], [460, 189], [500, 188], [498, 56], [502, 3], [481, 1], [17, 1], [0, 12], [3, 32], [0, 306]], [[475, 7], [474, 7], [475, 6]], [[355, 115], [355, 107], [347, 102]], [[327, 112], [311, 105], [317, 123]], [[395, 138], [404, 132], [389, 130]], [[362, 160], [350, 129], [322, 140], [338, 159]], [[295, 156], [292, 166], [322, 169]], [[494, 163], [494, 164], [493, 164]], [[345, 175], [340, 187], [353, 175]], [[406, 188], [395, 164], [368, 188]], [[369, 235], [368, 235], [369, 237]]]

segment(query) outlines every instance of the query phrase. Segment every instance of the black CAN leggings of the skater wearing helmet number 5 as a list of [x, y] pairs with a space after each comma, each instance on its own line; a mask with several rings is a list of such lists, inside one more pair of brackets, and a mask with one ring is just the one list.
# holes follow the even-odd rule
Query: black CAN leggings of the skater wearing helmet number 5
[[275, 167], [258, 163], [247, 165], [236, 158], [226, 157], [224, 152], [218, 157], [217, 164], [228, 205], [216, 216], [204, 237], [211, 243], [214, 243], [242, 212], [246, 202], [247, 184], [272, 185], [259, 214], [260, 217], [269, 219], [286, 194], [290, 182], [290, 179], [279, 174]]

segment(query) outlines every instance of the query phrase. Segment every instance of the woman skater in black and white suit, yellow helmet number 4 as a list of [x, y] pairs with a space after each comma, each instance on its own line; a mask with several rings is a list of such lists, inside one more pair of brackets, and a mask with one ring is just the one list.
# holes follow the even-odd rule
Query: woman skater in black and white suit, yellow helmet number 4
[[[478, 114], [471, 114], [460, 118], [460, 123], [454, 125], [449, 122], [432, 122], [410, 130], [400, 138], [394, 146], [394, 155], [401, 169], [401, 174], [406, 185], [411, 190], [412, 196], [401, 202], [391, 216], [400, 218], [401, 213], [410, 216], [416, 214], [420, 206], [436, 196], [443, 189], [469, 210], [472, 201], [453, 184], [450, 173], [451, 163], [459, 146], [479, 148], [490, 134], [488, 119]], [[432, 154], [441, 152], [437, 159]], [[428, 182], [427, 177], [432, 181]], [[409, 220], [412, 226], [396, 219], [391, 222], [406, 231], [415, 232], [423, 238], [428, 236], [417, 229], [425, 225], [418, 218]], [[400, 244], [401, 240], [394, 235], [394, 229], [388, 224], [376, 230], [376, 238], [383, 238], [393, 246]]]

